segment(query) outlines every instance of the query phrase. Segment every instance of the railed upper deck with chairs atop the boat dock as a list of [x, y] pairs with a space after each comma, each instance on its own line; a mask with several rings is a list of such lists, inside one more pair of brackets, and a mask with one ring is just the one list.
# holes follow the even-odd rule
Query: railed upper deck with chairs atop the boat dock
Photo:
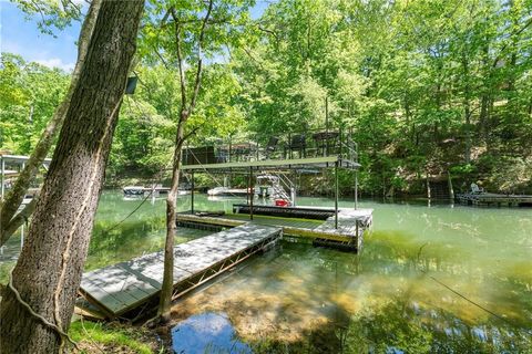
[[276, 136], [250, 136], [205, 142], [183, 149], [182, 169], [238, 171], [279, 168], [356, 169], [352, 133], [344, 129], [307, 129]]

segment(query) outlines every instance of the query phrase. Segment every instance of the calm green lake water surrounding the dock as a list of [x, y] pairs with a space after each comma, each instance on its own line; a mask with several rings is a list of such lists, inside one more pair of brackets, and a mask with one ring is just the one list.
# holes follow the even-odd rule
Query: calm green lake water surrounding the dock
[[[229, 211], [242, 200], [196, 195], [196, 209]], [[163, 199], [116, 225], [139, 204], [103, 194], [86, 269], [163, 247]], [[332, 206], [325, 198], [298, 204]], [[188, 209], [190, 196], [178, 206]], [[257, 353], [532, 352], [532, 209], [360, 207], [375, 209], [360, 254], [283, 241], [178, 302], [175, 323], [223, 313]], [[208, 232], [177, 233], [185, 242]], [[1, 251], [2, 282], [20, 244], [18, 235]]]

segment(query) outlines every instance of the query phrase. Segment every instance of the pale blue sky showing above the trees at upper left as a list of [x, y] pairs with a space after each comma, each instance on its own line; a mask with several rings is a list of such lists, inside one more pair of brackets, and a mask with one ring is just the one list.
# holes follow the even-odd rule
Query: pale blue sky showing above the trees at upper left
[[[252, 17], [258, 18], [270, 2], [258, 0]], [[53, 38], [41, 33], [35, 21], [27, 19], [16, 4], [0, 0], [0, 52], [19, 54], [25, 61], [71, 71], [78, 56], [75, 41], [80, 28], [80, 22], [73, 22], [71, 27], [55, 31], [57, 38]]]

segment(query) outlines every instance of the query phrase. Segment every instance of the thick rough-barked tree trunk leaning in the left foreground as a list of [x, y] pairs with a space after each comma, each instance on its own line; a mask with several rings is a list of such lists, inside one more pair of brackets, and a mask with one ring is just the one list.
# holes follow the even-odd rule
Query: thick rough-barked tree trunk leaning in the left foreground
[[[69, 329], [114, 127], [135, 52], [143, 0], [102, 2], [28, 238], [12, 273], [33, 311]], [[63, 341], [9, 288], [2, 354], [57, 353]]]

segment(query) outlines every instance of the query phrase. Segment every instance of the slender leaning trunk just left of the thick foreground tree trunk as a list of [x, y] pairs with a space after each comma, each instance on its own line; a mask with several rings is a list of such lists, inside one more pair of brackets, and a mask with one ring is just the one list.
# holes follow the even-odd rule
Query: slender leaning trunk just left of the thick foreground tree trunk
[[[96, 22], [101, 3], [102, 0], [93, 0], [91, 7], [89, 8], [89, 12], [86, 13], [85, 20], [83, 21], [78, 45], [78, 62], [75, 63], [74, 71], [72, 72], [69, 91], [66, 92], [63, 102], [55, 110], [52, 118], [44, 128], [39, 143], [37, 143], [37, 146], [31, 154], [30, 159], [25, 164], [21, 175], [19, 178], [17, 178], [13, 188], [8, 192], [6, 200], [0, 205], [0, 246], [6, 243], [11, 235], [19, 228], [20, 218], [18, 220], [13, 220], [14, 215], [22, 204], [31, 181], [39, 171], [39, 167], [44, 162], [57, 133], [63, 124], [66, 111], [69, 110], [70, 101], [72, 100], [74, 88], [78, 85], [80, 73], [85, 62], [86, 50], [94, 30], [94, 24]], [[30, 206], [27, 206], [24, 214], [29, 217], [32, 212], [33, 207], [30, 208]], [[13, 223], [13, 221], [16, 222]]]

